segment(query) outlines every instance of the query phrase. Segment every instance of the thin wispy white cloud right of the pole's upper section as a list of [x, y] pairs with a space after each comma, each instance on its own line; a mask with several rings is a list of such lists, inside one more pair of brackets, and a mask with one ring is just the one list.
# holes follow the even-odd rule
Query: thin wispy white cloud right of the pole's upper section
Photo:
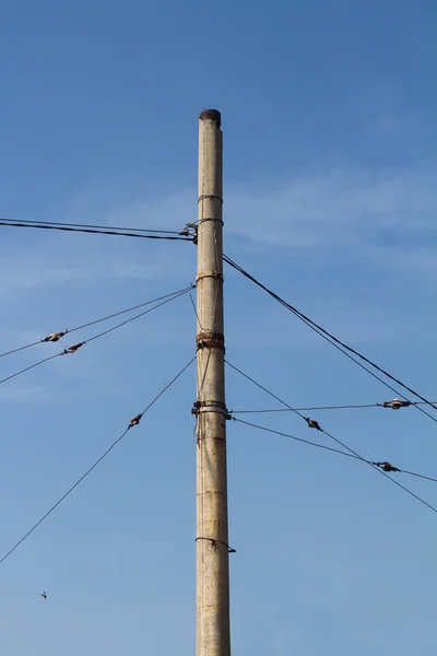
[[276, 189], [229, 189], [231, 232], [265, 246], [368, 248], [383, 231], [434, 231], [432, 175], [388, 176], [333, 171]]

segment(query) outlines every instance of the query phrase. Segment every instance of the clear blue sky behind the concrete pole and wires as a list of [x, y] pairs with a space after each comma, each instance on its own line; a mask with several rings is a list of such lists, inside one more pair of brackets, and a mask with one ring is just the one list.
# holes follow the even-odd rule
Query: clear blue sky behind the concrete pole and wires
[[[216, 107], [226, 253], [437, 400], [436, 27], [432, 0], [4, 1], [0, 214], [181, 229], [197, 118]], [[7, 227], [0, 261], [1, 350], [196, 277], [190, 244]], [[225, 283], [229, 361], [287, 402], [392, 397], [236, 272]], [[2, 552], [190, 360], [193, 319], [178, 300], [1, 385]], [[2, 359], [1, 377], [48, 349]], [[3, 563], [2, 653], [193, 653], [193, 400], [192, 368]], [[233, 372], [227, 403], [272, 406]], [[316, 418], [437, 475], [414, 410]], [[436, 516], [359, 462], [228, 429], [234, 653], [435, 654]], [[437, 504], [433, 483], [402, 482]]]

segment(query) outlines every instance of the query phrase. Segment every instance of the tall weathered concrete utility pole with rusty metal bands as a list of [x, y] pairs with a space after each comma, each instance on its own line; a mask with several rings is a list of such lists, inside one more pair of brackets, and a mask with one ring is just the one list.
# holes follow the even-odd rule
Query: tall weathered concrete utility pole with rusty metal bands
[[197, 656], [231, 656], [221, 115], [199, 119]]

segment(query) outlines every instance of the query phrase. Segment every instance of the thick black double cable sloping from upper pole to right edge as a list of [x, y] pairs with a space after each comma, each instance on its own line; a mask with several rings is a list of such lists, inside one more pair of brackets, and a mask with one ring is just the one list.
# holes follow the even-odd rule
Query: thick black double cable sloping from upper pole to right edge
[[[408, 385], [404, 385], [401, 380], [399, 380], [398, 378], [395, 378], [394, 376], [392, 376], [390, 373], [388, 373], [387, 371], [385, 371], [379, 365], [375, 364], [371, 360], [369, 360], [368, 358], [366, 358], [365, 355], [363, 355], [362, 353], [359, 353], [358, 351], [356, 351], [352, 347], [349, 347], [347, 344], [345, 344], [344, 342], [342, 342], [341, 340], [339, 340], [336, 337], [334, 337], [333, 335], [331, 335], [330, 332], [328, 332], [328, 330], [326, 330], [324, 328], [322, 328], [321, 326], [319, 326], [318, 324], [316, 324], [315, 321], [312, 321], [312, 319], [310, 319], [309, 317], [307, 317], [306, 315], [304, 315], [303, 313], [300, 313], [296, 307], [294, 307], [293, 305], [291, 305], [290, 303], [287, 303], [286, 301], [284, 301], [275, 292], [273, 292], [268, 286], [265, 286], [264, 284], [262, 284], [259, 280], [257, 280], [253, 276], [251, 276], [250, 273], [248, 273], [245, 269], [243, 269], [243, 267], [240, 267], [239, 265], [237, 265], [229, 257], [227, 257], [226, 255], [224, 255], [223, 259], [224, 259], [224, 261], [227, 265], [229, 265], [235, 270], [237, 270], [239, 273], [241, 273], [245, 278], [247, 278], [248, 280], [250, 280], [251, 282], [253, 282], [257, 286], [259, 286], [264, 292], [267, 292], [272, 298], [274, 298], [275, 301], [277, 301], [281, 305], [283, 305], [286, 309], [288, 309], [292, 314], [294, 314], [306, 326], [308, 326], [311, 330], [314, 330], [315, 332], [317, 332], [317, 335], [319, 335], [326, 341], [328, 341], [333, 347], [335, 347], [335, 349], [338, 349], [341, 353], [343, 353], [344, 355], [346, 355], [346, 358], [349, 358], [350, 360], [352, 360], [355, 364], [357, 364], [361, 368], [363, 368], [368, 374], [370, 374], [374, 378], [376, 378], [377, 380], [379, 380], [380, 383], [382, 383], [382, 385], [385, 385], [386, 387], [388, 387], [389, 389], [391, 389], [392, 391], [394, 391], [394, 394], [397, 394], [398, 396], [400, 396], [402, 399], [409, 400], [403, 394], [401, 394], [399, 390], [397, 390], [394, 387], [392, 387], [389, 383], [387, 383], [386, 380], [383, 380], [380, 376], [378, 376], [377, 374], [375, 374], [368, 367], [366, 367], [365, 365], [363, 365], [358, 360], [356, 360], [355, 358], [353, 358], [351, 355], [351, 353], [355, 354], [361, 360], [367, 362], [370, 366], [373, 366], [374, 368], [376, 368], [377, 371], [379, 371], [380, 373], [382, 373], [385, 376], [387, 376], [388, 378], [390, 378], [391, 380], [393, 380], [394, 383], [397, 383], [398, 385], [400, 385], [401, 387], [403, 387], [404, 389], [406, 389], [408, 391], [410, 391], [411, 394], [413, 394], [414, 396], [416, 396], [417, 398], [420, 398], [425, 405], [430, 406], [432, 408], [434, 408], [435, 410], [437, 410], [437, 405], [433, 403], [432, 401], [428, 401], [425, 397], [423, 397], [422, 395], [420, 395], [417, 391], [415, 391], [414, 389], [412, 389]], [[426, 414], [426, 417], [428, 417], [429, 419], [432, 419], [434, 422], [437, 423], [437, 419], [435, 417], [433, 417], [433, 414], [429, 414], [428, 412], [426, 412], [426, 410], [424, 410], [420, 406], [414, 406], [414, 407], [417, 408], [417, 410], [420, 412], [422, 412], [423, 414]]]

